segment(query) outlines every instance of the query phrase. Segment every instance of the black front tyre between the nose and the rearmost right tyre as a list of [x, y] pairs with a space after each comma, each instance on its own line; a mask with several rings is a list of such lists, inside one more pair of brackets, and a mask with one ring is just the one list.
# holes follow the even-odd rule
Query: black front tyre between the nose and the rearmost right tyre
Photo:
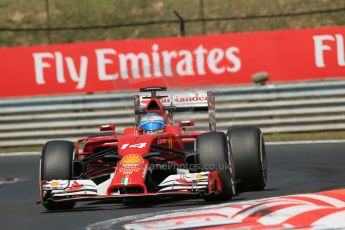
[[200, 171], [219, 171], [223, 190], [205, 196], [206, 201], [230, 200], [235, 194], [235, 175], [226, 135], [222, 132], [201, 134], [196, 139], [196, 159]]

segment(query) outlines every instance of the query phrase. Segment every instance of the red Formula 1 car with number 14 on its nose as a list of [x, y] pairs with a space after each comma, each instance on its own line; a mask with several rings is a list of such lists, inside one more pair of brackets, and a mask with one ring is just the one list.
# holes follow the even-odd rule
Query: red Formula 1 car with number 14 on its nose
[[[266, 185], [265, 145], [260, 129], [215, 131], [212, 92], [162, 93], [164, 87], [141, 89], [134, 96], [135, 127], [108, 136], [49, 141], [40, 162], [40, 199], [50, 210], [73, 208], [77, 201], [200, 195], [206, 201], [230, 200]], [[148, 94], [150, 93], [150, 94]], [[144, 95], [143, 95], [144, 94]], [[175, 123], [173, 113], [207, 111], [209, 130], [187, 131], [191, 120]], [[144, 132], [141, 119], [157, 114], [159, 132]], [[150, 120], [146, 116], [146, 120]]]

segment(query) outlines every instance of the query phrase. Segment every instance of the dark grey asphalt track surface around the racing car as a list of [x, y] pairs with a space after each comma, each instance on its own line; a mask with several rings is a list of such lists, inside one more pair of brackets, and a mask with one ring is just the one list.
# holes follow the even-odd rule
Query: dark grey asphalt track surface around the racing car
[[[233, 201], [345, 187], [345, 142], [269, 145], [267, 157], [265, 191], [243, 193]], [[49, 212], [36, 204], [38, 167], [39, 156], [0, 157], [0, 178], [19, 179], [15, 183], [0, 183], [0, 229], [85, 229], [108, 219], [205, 205], [201, 199], [170, 200], [139, 207], [88, 202], [79, 203], [72, 211]]]

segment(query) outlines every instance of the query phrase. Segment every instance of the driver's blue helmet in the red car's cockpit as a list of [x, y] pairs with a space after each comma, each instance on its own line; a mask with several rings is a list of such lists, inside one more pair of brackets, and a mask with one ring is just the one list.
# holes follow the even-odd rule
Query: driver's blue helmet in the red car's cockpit
[[165, 127], [164, 119], [157, 113], [147, 113], [140, 121], [139, 128], [145, 134], [163, 132]]

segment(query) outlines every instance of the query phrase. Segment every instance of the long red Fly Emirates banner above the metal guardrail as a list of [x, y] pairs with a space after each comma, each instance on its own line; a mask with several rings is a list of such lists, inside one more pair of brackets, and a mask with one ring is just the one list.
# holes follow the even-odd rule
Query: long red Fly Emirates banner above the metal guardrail
[[345, 77], [345, 27], [0, 48], [0, 97]]

